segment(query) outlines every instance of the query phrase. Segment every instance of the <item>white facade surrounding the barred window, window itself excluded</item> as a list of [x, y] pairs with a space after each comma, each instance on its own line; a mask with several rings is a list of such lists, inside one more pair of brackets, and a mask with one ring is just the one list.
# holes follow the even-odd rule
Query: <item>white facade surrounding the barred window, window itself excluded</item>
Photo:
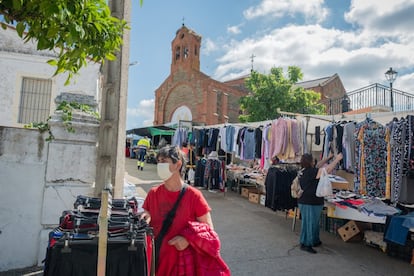
[[56, 96], [62, 92], [96, 98], [100, 64], [88, 63], [75, 75], [71, 84], [65, 86], [67, 74], [52, 77], [56, 68], [46, 63], [55, 56], [51, 51], [37, 51], [31, 42], [24, 43], [14, 29], [0, 30], [0, 126], [23, 126], [17, 123], [23, 77], [52, 79], [50, 114], [55, 110]]

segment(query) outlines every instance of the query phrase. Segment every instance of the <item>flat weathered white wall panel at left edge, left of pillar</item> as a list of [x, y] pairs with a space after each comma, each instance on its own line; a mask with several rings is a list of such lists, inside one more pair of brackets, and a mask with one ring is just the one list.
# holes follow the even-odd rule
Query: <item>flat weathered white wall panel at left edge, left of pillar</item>
[[0, 271], [37, 263], [48, 145], [37, 130], [0, 128]]

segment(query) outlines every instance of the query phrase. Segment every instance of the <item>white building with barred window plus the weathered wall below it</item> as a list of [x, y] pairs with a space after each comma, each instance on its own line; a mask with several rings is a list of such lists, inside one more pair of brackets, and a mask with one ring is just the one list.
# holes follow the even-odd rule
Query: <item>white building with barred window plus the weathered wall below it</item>
[[[48, 233], [77, 195], [91, 195], [96, 175], [99, 122], [74, 114], [68, 133], [58, 114], [60, 101], [99, 106], [100, 64], [80, 70], [70, 85], [53, 76], [51, 51], [37, 51], [13, 28], [0, 29], [0, 272], [41, 265]], [[24, 129], [46, 122], [55, 139]]]

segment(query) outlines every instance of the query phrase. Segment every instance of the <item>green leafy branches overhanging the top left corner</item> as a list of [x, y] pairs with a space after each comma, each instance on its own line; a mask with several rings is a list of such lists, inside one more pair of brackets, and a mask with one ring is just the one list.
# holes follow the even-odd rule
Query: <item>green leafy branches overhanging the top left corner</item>
[[[142, 4], [142, 0], [141, 0]], [[38, 50], [56, 50], [48, 63], [56, 74], [68, 73], [66, 84], [87, 59], [114, 60], [127, 24], [111, 16], [106, 0], [0, 0], [2, 27], [16, 26], [24, 41]]]

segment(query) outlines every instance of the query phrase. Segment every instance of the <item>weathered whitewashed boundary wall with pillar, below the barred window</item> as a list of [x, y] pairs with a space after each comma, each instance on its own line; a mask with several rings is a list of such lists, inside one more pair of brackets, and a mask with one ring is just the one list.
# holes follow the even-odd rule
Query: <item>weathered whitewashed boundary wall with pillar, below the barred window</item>
[[42, 265], [62, 211], [93, 194], [99, 124], [73, 116], [69, 133], [53, 115], [51, 142], [38, 130], [0, 127], [0, 271]]

